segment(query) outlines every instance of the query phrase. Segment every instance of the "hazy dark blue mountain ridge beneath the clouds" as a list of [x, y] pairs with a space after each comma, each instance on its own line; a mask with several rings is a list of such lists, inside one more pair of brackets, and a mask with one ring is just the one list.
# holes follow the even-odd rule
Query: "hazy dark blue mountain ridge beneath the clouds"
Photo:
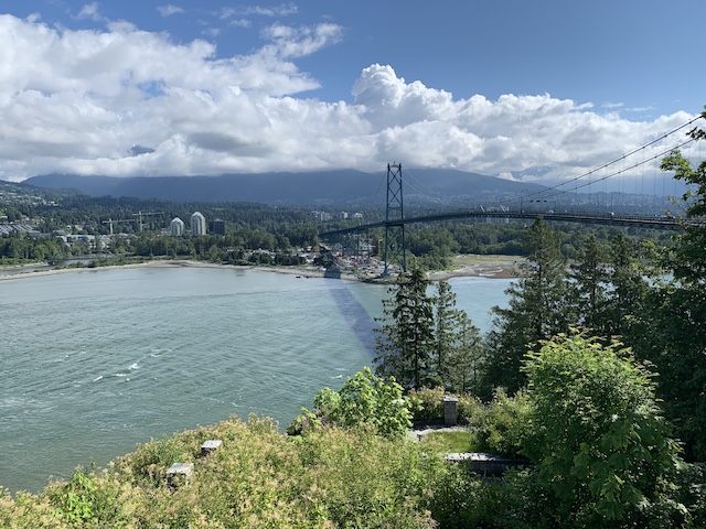
[[[454, 170], [403, 170], [405, 203], [447, 204], [517, 199], [545, 188], [538, 184]], [[178, 202], [256, 202], [282, 205], [385, 204], [386, 172], [355, 170], [224, 174], [221, 176], [79, 176], [46, 174], [24, 184], [76, 190], [90, 196], [129, 196]]]

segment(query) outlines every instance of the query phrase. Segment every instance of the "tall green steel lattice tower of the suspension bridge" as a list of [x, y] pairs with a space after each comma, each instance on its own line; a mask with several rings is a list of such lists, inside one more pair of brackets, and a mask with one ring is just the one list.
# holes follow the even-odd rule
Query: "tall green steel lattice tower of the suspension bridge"
[[387, 164], [387, 207], [385, 208], [385, 250], [383, 277], [389, 276], [388, 264], [397, 261], [407, 271], [404, 204], [402, 195], [402, 163]]

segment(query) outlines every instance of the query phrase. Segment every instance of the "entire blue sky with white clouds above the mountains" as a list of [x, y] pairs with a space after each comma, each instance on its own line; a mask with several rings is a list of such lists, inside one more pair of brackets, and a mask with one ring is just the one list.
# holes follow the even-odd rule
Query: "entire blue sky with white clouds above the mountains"
[[644, 179], [706, 105], [703, 20], [704, 0], [0, 0], [0, 180]]

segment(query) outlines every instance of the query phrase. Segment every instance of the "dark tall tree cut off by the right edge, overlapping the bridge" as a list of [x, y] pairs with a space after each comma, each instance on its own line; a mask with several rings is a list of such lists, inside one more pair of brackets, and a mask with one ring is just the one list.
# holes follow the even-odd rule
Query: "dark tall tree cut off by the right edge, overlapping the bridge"
[[[702, 114], [706, 119], [706, 111]], [[706, 131], [694, 129], [694, 140]], [[692, 187], [682, 199], [689, 219], [706, 215], [706, 160], [697, 168], [680, 151], [661, 164]], [[665, 259], [666, 273], [646, 292], [630, 343], [661, 374], [657, 395], [689, 460], [706, 460], [706, 227], [689, 224]]]

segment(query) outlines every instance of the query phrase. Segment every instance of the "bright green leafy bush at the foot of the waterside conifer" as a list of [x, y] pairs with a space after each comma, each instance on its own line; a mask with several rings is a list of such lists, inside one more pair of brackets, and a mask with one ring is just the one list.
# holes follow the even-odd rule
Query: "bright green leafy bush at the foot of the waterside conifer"
[[301, 433], [310, 427], [335, 424], [341, 428], [366, 425], [378, 435], [400, 438], [411, 427], [416, 399], [406, 398], [393, 377], [387, 380], [373, 375], [368, 367], [349, 378], [340, 391], [320, 390], [313, 411], [302, 410], [289, 427], [289, 433]]

